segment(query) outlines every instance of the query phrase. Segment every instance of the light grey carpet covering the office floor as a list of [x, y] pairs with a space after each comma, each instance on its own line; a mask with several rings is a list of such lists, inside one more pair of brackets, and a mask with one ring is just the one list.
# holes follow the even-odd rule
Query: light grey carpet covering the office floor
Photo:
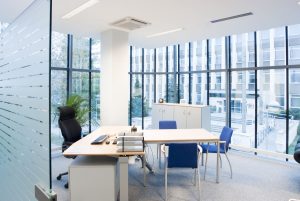
[[[156, 150], [155, 147], [153, 150]], [[155, 152], [155, 151], [154, 151]], [[151, 152], [150, 152], [151, 153]], [[202, 201], [288, 201], [300, 200], [300, 164], [267, 159], [253, 154], [230, 150], [229, 159], [233, 167], [230, 179], [229, 166], [222, 157], [220, 183], [215, 182], [215, 155], [208, 158], [206, 180], [203, 180], [204, 166], [201, 167]], [[71, 159], [61, 154], [53, 154], [53, 189], [58, 201], [69, 201], [69, 192], [63, 188], [67, 181], [64, 177], [56, 180], [59, 172], [67, 170]], [[158, 168], [156, 156], [149, 154], [149, 162], [154, 165], [155, 174], [147, 174], [147, 187], [143, 187], [143, 170], [136, 161], [129, 166], [129, 200], [164, 200], [164, 170]], [[171, 169], [168, 174], [169, 200], [198, 200], [197, 187], [193, 185], [193, 170]]]

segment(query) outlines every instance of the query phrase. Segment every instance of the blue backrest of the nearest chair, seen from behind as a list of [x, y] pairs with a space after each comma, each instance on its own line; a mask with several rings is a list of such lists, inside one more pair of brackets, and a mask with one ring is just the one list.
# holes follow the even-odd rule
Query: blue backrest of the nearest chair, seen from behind
[[168, 167], [197, 168], [197, 143], [169, 144]]

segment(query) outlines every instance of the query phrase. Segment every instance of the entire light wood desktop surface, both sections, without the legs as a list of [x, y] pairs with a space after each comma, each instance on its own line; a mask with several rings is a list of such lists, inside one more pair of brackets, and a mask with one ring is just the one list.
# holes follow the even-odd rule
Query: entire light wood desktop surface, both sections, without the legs
[[[120, 132], [130, 132], [130, 126], [103, 126], [75, 142], [63, 153], [65, 156], [134, 156], [144, 155], [145, 152], [118, 152], [117, 145], [112, 144], [115, 136]], [[205, 129], [155, 129], [143, 130], [145, 143], [180, 143], [180, 142], [218, 142], [219, 137]], [[108, 135], [111, 143], [103, 142], [91, 145], [100, 135]], [[106, 140], [106, 141], [107, 141]]]

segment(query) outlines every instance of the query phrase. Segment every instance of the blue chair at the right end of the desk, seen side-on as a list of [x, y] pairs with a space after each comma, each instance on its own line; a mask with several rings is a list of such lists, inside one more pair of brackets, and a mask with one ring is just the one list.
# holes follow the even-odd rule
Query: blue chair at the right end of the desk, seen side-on
[[[220, 135], [220, 154], [225, 154], [225, 156], [226, 156], [226, 159], [227, 159], [227, 161], [229, 163], [229, 167], [230, 167], [230, 177], [231, 178], [232, 178], [232, 168], [231, 168], [231, 164], [230, 164], [230, 161], [229, 161], [226, 153], [228, 151], [229, 144], [231, 143], [232, 133], [233, 133], [232, 128], [224, 126], [223, 130], [221, 132], [221, 135]], [[204, 179], [205, 179], [208, 153], [217, 153], [217, 145], [216, 144], [210, 145], [208, 143], [208, 144], [202, 144], [201, 147], [202, 147], [203, 153], [206, 153], [205, 171], [204, 171]], [[220, 155], [220, 160], [221, 160], [221, 155]]]

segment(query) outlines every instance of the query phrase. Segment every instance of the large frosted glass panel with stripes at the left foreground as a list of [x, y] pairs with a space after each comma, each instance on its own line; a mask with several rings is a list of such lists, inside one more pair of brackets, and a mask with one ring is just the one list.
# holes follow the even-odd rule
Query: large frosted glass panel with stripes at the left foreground
[[50, 189], [50, 1], [37, 0], [0, 35], [0, 200]]

